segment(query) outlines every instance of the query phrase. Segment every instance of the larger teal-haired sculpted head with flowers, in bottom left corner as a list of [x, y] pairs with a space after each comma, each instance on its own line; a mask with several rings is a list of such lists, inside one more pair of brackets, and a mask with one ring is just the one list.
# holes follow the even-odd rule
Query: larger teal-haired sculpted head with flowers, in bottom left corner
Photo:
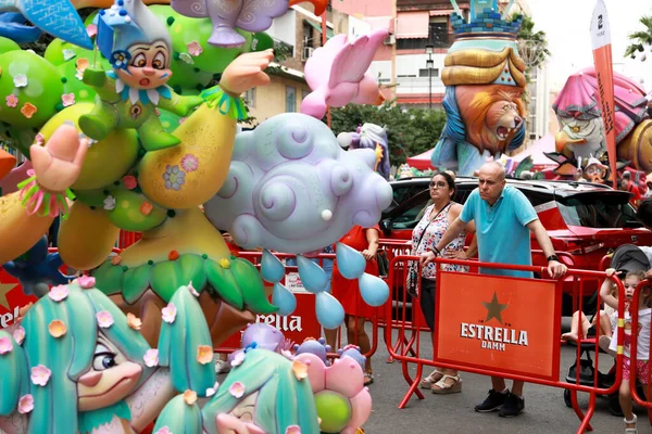
[[125, 316], [93, 280], [54, 286], [13, 333], [0, 330], [3, 432], [140, 432], [177, 393], [213, 390], [213, 348], [191, 286], [173, 296], [151, 348], [140, 319]]

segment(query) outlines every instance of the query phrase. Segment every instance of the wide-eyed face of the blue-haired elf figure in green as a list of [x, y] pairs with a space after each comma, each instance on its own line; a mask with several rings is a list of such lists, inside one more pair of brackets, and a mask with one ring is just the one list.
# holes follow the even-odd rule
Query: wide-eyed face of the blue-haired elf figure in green
[[170, 48], [163, 41], [135, 43], [128, 48], [126, 67], [117, 65], [117, 76], [135, 89], [156, 89], [172, 77]]

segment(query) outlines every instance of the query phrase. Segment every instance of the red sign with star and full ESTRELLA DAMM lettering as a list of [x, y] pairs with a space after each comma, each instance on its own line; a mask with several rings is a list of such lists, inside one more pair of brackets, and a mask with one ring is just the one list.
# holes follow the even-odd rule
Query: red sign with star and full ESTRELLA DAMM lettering
[[556, 281], [439, 271], [435, 360], [556, 380], [560, 315]]

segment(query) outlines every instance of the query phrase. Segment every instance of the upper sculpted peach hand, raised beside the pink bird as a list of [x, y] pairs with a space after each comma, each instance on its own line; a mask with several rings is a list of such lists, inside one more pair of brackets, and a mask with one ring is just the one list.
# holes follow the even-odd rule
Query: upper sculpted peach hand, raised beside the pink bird
[[274, 50], [240, 54], [222, 74], [220, 87], [231, 95], [240, 95], [258, 86], [267, 86], [269, 76], [263, 71], [274, 59]]

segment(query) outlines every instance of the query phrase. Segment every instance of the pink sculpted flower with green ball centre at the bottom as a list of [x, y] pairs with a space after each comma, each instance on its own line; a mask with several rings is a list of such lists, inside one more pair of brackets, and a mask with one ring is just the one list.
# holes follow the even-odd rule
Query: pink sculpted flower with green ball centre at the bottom
[[[318, 416], [322, 419], [322, 431], [355, 434], [372, 414], [372, 396], [364, 386], [364, 371], [360, 363], [344, 356], [335, 360], [333, 366], [326, 367], [324, 361], [312, 353], [300, 354], [294, 360], [302, 361], [308, 366], [308, 378], [316, 400], [319, 399], [321, 394], [329, 394], [338, 396], [341, 400], [348, 400], [350, 404], [351, 414], [344, 426], [329, 426], [328, 424], [331, 422], [327, 410], [324, 413], [321, 412]], [[342, 406], [342, 408], [346, 407], [348, 406]], [[339, 410], [341, 409], [334, 409], [334, 412]]]

